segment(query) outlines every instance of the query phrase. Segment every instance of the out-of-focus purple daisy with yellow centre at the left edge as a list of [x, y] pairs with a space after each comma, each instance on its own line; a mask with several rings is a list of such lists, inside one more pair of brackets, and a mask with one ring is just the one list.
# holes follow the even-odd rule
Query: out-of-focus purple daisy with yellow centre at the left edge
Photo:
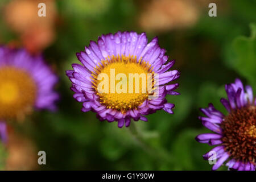
[[55, 110], [57, 80], [42, 56], [0, 47], [0, 120], [22, 119], [34, 108]]

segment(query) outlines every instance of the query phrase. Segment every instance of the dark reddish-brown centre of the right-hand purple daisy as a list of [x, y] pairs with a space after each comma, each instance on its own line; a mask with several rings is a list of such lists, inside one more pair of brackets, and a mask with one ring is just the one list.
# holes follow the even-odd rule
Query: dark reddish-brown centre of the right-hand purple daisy
[[221, 123], [223, 144], [231, 158], [255, 165], [256, 106], [231, 111]]

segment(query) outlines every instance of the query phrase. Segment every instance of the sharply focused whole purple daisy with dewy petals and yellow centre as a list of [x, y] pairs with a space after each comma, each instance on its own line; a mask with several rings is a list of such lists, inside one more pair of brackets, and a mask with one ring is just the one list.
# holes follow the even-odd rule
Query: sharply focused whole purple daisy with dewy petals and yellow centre
[[[128, 127], [131, 119], [147, 121], [144, 115], [160, 109], [172, 114], [174, 104], [167, 103], [165, 97], [167, 94], [179, 94], [174, 91], [179, 84], [168, 83], [179, 78], [180, 73], [176, 70], [169, 71], [175, 61], [168, 62], [165, 53], [166, 49], [159, 47], [158, 38], [147, 43], [145, 33], [117, 32], [102, 35], [97, 43], [91, 41], [85, 51], [76, 54], [82, 65], [72, 64], [73, 70], [66, 72], [72, 81], [71, 90], [75, 92], [73, 97], [83, 103], [82, 111], [97, 113], [100, 121], [117, 121], [118, 127]], [[143, 93], [142, 84], [134, 85], [140, 90], [139, 93], [126, 93], [126, 86], [124, 92], [112, 92], [121, 81], [112, 85], [111, 79], [110, 93], [109, 88], [104, 88], [107, 91], [105, 93], [99, 92], [99, 76], [104, 73], [111, 78], [112, 70], [115, 74], [121, 74], [122, 78], [129, 77], [129, 74], [151, 73], [153, 80], [155, 79], [152, 90], [156, 88], [157, 83], [158, 97], [150, 98], [149, 90]], [[117, 77], [115, 79], [117, 80]], [[124, 86], [121, 89], [124, 89]]]

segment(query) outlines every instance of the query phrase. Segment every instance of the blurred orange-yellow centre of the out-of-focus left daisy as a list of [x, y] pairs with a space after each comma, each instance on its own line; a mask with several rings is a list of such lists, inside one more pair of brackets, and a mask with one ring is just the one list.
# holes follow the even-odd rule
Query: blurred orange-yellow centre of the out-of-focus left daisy
[[36, 84], [27, 72], [0, 68], [0, 119], [22, 119], [32, 110], [35, 98]]

